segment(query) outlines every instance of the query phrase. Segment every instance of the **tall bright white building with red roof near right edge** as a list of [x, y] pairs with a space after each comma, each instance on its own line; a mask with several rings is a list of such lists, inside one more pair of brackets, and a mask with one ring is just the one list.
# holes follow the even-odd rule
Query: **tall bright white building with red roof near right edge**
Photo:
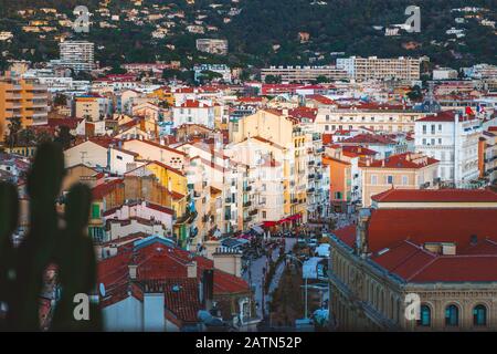
[[440, 160], [441, 181], [463, 187], [478, 178], [478, 118], [445, 111], [416, 121], [414, 131], [416, 152]]

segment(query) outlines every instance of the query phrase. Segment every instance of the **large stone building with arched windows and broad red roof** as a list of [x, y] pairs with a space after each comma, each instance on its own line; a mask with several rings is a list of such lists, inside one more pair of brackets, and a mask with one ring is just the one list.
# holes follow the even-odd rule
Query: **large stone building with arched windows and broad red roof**
[[339, 331], [497, 330], [497, 194], [396, 190], [330, 235]]

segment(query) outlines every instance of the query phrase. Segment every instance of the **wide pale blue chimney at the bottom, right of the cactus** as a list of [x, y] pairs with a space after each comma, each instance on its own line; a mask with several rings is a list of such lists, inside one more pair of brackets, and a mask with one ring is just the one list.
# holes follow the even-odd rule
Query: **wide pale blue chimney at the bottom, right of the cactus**
[[145, 284], [144, 331], [163, 332], [165, 330], [166, 320], [163, 287], [158, 283]]

